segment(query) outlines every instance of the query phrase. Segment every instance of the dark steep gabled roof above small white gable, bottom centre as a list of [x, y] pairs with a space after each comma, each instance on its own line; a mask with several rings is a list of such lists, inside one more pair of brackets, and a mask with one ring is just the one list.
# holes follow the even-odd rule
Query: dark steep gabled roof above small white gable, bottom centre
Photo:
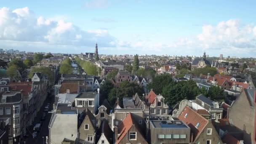
[[[99, 127], [99, 131], [96, 132], [96, 136], [101, 136], [102, 134], [104, 134], [109, 144], [113, 143], [114, 132], [109, 127], [108, 121], [106, 119], [101, 121], [101, 126]], [[99, 139], [96, 139], [95, 144], [97, 144], [98, 141]]]

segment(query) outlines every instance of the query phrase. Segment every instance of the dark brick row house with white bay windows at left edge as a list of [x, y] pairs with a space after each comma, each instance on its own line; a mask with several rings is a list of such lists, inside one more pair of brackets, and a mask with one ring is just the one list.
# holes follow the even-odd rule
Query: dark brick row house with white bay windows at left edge
[[0, 121], [8, 123], [8, 143], [18, 144], [25, 128], [22, 91], [6, 91], [0, 98]]

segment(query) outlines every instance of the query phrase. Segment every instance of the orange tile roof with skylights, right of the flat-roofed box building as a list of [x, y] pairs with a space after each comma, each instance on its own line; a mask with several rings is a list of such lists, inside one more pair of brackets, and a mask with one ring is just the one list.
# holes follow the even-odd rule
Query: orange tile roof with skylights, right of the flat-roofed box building
[[[185, 117], [186, 114], [187, 116]], [[195, 140], [200, 135], [205, 126], [208, 124], [208, 120], [205, 117], [195, 112], [188, 106], [184, 107], [178, 118], [191, 128], [191, 132], [194, 136], [193, 140]], [[199, 125], [196, 128], [195, 126], [197, 125], [197, 123], [199, 123]]]

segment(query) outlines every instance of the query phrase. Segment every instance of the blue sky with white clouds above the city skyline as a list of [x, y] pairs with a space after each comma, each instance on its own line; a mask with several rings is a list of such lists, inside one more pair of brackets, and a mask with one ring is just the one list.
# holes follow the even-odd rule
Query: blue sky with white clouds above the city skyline
[[0, 48], [255, 57], [255, 0], [5, 0]]

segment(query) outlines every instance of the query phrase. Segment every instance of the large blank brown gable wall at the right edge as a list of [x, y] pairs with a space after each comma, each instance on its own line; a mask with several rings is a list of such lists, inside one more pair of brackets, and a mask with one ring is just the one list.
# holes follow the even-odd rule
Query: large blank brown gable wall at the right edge
[[243, 131], [245, 144], [253, 144], [255, 136], [255, 90], [244, 90], [228, 109], [229, 121]]

